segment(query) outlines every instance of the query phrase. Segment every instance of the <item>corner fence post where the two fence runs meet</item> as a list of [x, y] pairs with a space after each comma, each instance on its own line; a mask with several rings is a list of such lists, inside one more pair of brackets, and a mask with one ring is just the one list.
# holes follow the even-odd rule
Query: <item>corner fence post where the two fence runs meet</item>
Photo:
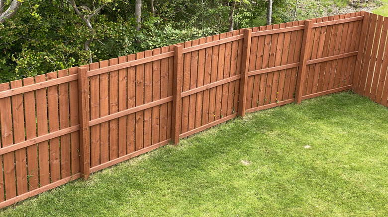
[[367, 38], [367, 30], [368, 30], [368, 24], [369, 24], [369, 15], [370, 13], [362, 11], [364, 13], [364, 19], [363, 19], [363, 25], [361, 28], [361, 36], [360, 36], [360, 44], [358, 47], [358, 53], [357, 53], [357, 61], [356, 61], [356, 66], [353, 71], [353, 78], [352, 79], [352, 90], [355, 93], [359, 93], [359, 86], [358, 86], [358, 79], [361, 75], [361, 63], [362, 63], [362, 58], [364, 54], [364, 48], [365, 48], [365, 40]]

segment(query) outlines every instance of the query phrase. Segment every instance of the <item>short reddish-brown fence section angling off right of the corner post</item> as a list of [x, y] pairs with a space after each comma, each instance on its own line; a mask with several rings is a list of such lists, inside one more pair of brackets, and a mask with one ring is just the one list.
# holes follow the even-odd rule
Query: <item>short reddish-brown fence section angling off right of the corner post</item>
[[354, 91], [376, 103], [388, 106], [388, 18], [366, 13], [360, 36]]

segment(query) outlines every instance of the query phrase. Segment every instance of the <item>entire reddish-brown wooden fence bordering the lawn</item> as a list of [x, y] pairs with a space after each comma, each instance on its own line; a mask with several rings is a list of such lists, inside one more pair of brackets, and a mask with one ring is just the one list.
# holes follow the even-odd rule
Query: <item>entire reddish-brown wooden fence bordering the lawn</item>
[[383, 19], [357, 12], [240, 29], [1, 84], [0, 207], [355, 81], [387, 105]]

